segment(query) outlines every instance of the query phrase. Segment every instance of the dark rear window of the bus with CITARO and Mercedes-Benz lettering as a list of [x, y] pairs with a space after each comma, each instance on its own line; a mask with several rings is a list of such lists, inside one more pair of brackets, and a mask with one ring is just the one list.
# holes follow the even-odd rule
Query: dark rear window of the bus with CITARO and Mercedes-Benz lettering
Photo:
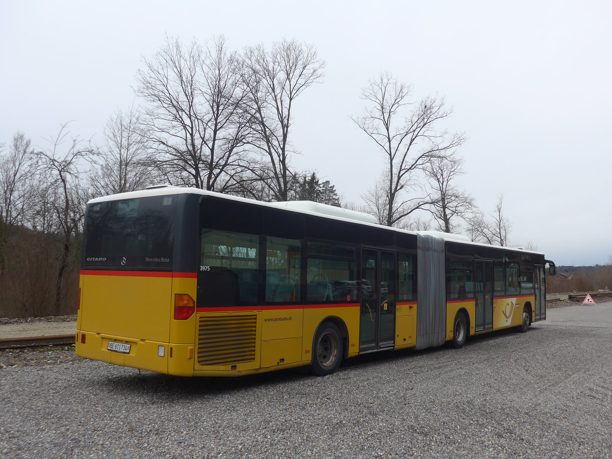
[[174, 196], [89, 204], [84, 266], [171, 267]]

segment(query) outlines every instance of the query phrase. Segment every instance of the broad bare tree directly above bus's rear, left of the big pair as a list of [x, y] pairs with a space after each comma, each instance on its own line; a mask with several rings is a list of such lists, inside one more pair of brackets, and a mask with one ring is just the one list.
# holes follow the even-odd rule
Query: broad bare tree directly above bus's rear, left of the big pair
[[145, 102], [147, 138], [167, 179], [217, 192], [229, 192], [244, 171], [247, 122], [239, 111], [235, 53], [217, 37], [206, 47], [184, 47], [166, 38], [138, 71], [136, 94]]

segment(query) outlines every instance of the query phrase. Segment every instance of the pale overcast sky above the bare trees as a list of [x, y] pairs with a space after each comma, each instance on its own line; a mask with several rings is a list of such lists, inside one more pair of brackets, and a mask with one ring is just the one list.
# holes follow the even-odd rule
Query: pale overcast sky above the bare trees
[[0, 0], [0, 143], [45, 146], [59, 125], [102, 143], [132, 103], [142, 56], [166, 35], [228, 47], [295, 38], [325, 78], [296, 100], [293, 165], [361, 203], [384, 168], [349, 116], [381, 70], [446, 97], [444, 127], [468, 135], [460, 183], [485, 213], [499, 193], [510, 244], [557, 264], [612, 262], [612, 2]]

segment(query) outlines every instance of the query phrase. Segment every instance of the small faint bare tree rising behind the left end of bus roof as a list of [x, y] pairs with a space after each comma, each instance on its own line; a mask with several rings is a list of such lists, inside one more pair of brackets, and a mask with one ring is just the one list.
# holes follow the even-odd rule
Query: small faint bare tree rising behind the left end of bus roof
[[98, 149], [99, 158], [94, 158], [90, 174], [95, 195], [140, 190], [155, 180], [149, 146], [134, 107], [111, 115], [106, 121], [104, 137], [105, 145]]

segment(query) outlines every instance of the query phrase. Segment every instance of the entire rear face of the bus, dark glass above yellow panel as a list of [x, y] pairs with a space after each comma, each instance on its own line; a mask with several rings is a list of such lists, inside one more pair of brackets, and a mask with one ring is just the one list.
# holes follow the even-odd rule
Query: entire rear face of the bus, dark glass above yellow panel
[[179, 217], [184, 201], [142, 196], [88, 205], [78, 356], [193, 375], [196, 274], [181, 269], [176, 244], [187, 223]]

